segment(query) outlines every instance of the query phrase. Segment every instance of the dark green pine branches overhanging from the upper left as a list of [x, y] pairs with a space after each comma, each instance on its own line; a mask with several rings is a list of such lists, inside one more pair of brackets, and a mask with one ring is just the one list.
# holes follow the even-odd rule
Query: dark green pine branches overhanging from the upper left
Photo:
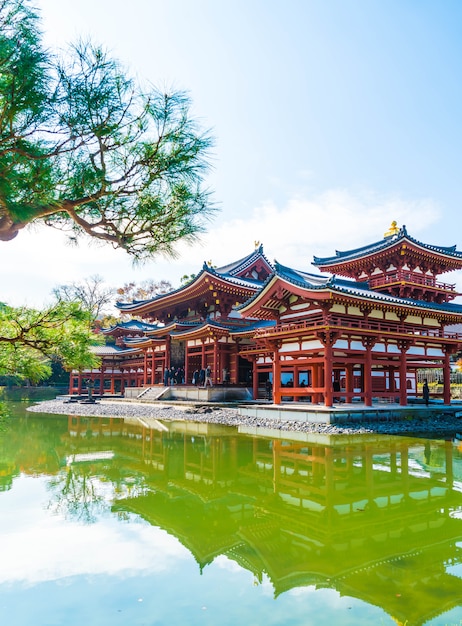
[[0, 0], [0, 240], [40, 222], [135, 260], [174, 254], [214, 210], [212, 140], [190, 108], [92, 43], [58, 59], [31, 2]]

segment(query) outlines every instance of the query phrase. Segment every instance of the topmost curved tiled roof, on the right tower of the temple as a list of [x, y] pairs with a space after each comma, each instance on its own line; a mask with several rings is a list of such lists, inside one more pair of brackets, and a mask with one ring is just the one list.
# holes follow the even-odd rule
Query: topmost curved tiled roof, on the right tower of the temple
[[458, 251], [456, 249], [456, 246], [433, 246], [423, 243], [422, 241], [411, 237], [406, 230], [406, 226], [402, 226], [400, 231], [395, 235], [385, 237], [384, 239], [376, 241], [375, 243], [368, 244], [367, 246], [362, 246], [361, 248], [355, 248], [353, 250], [345, 250], [343, 252], [340, 250], [336, 250], [335, 256], [331, 257], [315, 256], [313, 257], [313, 265], [322, 267], [325, 265], [346, 263], [348, 261], [360, 259], [365, 256], [370, 256], [377, 252], [382, 252], [383, 250], [386, 250], [387, 248], [392, 248], [397, 243], [400, 243], [404, 240], [429, 252], [442, 254], [444, 256], [462, 260], [462, 252]]

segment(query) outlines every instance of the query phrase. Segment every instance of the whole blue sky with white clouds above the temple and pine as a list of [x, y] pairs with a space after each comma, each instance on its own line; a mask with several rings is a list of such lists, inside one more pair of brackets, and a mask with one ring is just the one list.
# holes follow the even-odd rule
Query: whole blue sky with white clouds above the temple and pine
[[[0, 243], [0, 301], [58, 285], [180, 284], [263, 244], [270, 261], [378, 241], [392, 220], [462, 249], [462, 3], [458, 0], [35, 0], [51, 50], [90, 38], [141, 82], [185, 90], [215, 138], [219, 211], [176, 260], [33, 226]], [[462, 275], [456, 282], [462, 291]], [[115, 310], [114, 310], [115, 312]]]

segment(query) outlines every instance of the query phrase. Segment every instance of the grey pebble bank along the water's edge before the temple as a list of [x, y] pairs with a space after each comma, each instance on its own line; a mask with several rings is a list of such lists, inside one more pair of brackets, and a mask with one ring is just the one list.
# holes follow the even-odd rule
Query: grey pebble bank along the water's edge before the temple
[[462, 430], [461, 420], [440, 415], [438, 417], [405, 419], [374, 423], [314, 424], [311, 422], [260, 419], [240, 415], [237, 409], [221, 406], [172, 406], [162, 403], [136, 404], [123, 401], [98, 401], [94, 404], [69, 403], [62, 399], [40, 402], [28, 408], [34, 413], [52, 413], [60, 415], [80, 415], [88, 417], [121, 417], [128, 419], [169, 421], [192, 421], [221, 424], [225, 426], [253, 426], [275, 428], [285, 431], [339, 434], [421, 434], [431, 436], [451, 436]]

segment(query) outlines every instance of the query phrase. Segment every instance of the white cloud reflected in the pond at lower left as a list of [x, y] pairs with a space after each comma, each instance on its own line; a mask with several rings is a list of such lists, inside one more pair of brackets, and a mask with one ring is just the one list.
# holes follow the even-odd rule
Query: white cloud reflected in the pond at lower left
[[178, 560], [190, 558], [177, 539], [144, 524], [125, 524], [122, 531], [102, 522], [83, 526], [55, 517], [17, 531], [11, 529], [3, 538], [0, 584], [36, 584], [78, 575], [154, 573], [171, 570]]

